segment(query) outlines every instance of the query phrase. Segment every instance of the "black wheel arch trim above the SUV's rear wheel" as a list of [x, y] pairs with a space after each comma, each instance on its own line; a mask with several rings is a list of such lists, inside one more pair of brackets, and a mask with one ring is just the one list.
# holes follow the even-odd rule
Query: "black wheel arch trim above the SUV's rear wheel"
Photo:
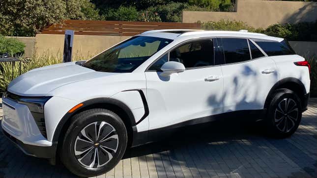
[[301, 82], [298, 78], [294, 78], [294, 77], [287, 77], [287, 78], [283, 78], [281, 80], [279, 80], [278, 82], [276, 82], [273, 87], [271, 88], [271, 90], [269, 91], [265, 103], [264, 103], [264, 109], [267, 109], [269, 104], [270, 104], [270, 100], [273, 97], [273, 93], [275, 90], [279, 89], [281, 86], [285, 85], [286, 83], [296, 83], [297, 85], [300, 86], [300, 91], [302, 92], [302, 94], [305, 96], [307, 94], [306, 92], [306, 88], [303, 84], [303, 82]]

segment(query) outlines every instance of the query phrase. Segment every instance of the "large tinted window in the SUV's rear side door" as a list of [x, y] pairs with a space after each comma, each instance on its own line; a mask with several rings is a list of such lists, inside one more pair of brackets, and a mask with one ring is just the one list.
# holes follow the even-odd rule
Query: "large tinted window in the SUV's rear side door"
[[222, 38], [226, 64], [250, 60], [247, 39]]

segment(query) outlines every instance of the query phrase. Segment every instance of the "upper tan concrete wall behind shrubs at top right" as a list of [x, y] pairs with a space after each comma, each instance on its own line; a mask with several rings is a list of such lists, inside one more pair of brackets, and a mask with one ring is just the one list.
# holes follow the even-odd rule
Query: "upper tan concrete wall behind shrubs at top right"
[[183, 11], [184, 23], [197, 21], [243, 21], [253, 27], [266, 28], [277, 23], [298, 23], [317, 20], [317, 2], [281, 0], [237, 0], [237, 12]]

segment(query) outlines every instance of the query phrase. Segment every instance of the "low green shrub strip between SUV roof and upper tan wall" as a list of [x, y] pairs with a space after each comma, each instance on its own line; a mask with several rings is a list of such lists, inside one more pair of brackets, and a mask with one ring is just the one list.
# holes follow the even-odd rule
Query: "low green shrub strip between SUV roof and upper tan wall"
[[263, 32], [262, 28], [254, 28], [247, 25], [241, 21], [229, 21], [229, 20], [220, 20], [218, 22], [207, 22], [202, 23], [202, 29], [205, 30], [229, 30], [229, 31], [238, 31], [241, 29], [246, 29], [249, 32]]

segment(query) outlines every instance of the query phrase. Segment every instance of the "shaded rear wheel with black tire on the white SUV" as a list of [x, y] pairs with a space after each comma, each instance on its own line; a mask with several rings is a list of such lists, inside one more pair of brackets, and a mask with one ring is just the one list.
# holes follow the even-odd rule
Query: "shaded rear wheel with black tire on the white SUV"
[[266, 118], [269, 135], [275, 138], [287, 138], [292, 135], [302, 119], [301, 111], [301, 102], [295, 92], [288, 89], [276, 90]]

